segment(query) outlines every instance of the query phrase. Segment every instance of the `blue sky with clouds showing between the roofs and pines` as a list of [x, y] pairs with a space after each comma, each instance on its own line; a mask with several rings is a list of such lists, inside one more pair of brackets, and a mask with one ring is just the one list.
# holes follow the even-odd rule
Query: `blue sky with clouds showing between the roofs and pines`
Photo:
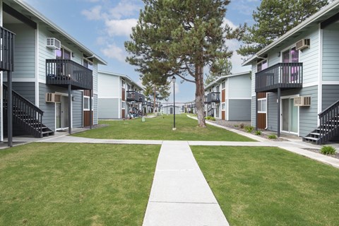
[[[139, 11], [143, 8], [141, 0], [23, 0], [52, 20], [61, 29], [107, 61], [107, 66], [99, 66], [102, 71], [121, 73], [141, 84], [135, 66], [128, 64], [124, 42], [130, 40], [131, 28], [136, 25]], [[225, 22], [231, 28], [239, 24], [253, 24], [252, 13], [261, 0], [233, 0], [227, 6]], [[242, 57], [235, 50], [240, 43], [227, 40], [227, 46], [233, 51], [232, 73], [250, 71], [241, 66]], [[208, 73], [208, 71], [204, 71]], [[171, 95], [168, 102], [173, 102]], [[195, 84], [175, 83], [176, 102], [191, 102], [195, 99]]]

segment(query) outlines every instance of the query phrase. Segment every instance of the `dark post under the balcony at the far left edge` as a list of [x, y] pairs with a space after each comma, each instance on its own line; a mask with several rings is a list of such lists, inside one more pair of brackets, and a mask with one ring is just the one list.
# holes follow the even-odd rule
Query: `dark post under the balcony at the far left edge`
[[8, 100], [7, 100], [7, 145], [13, 147], [13, 95], [12, 71], [7, 71]]

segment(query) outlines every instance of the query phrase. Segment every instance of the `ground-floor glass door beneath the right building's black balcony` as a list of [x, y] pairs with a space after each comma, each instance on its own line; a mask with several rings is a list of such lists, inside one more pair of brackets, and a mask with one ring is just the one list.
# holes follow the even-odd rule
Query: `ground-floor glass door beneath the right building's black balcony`
[[295, 106], [294, 98], [282, 100], [282, 129], [288, 133], [298, 133], [299, 107]]

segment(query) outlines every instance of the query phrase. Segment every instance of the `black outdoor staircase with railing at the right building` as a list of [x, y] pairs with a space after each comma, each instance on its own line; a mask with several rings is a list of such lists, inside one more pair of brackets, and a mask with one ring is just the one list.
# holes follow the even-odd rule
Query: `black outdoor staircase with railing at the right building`
[[321, 145], [339, 135], [339, 100], [319, 114], [320, 125], [302, 138], [303, 141]]

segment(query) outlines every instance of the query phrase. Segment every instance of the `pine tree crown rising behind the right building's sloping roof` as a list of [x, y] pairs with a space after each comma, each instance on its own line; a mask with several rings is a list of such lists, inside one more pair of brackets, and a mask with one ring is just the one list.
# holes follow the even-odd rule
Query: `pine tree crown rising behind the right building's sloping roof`
[[329, 2], [331, 1], [262, 0], [260, 6], [253, 13], [254, 25], [248, 27], [245, 24], [240, 31], [246, 30], [246, 32], [242, 35], [237, 34], [239, 40], [244, 42], [237, 53], [244, 57], [251, 57]]

